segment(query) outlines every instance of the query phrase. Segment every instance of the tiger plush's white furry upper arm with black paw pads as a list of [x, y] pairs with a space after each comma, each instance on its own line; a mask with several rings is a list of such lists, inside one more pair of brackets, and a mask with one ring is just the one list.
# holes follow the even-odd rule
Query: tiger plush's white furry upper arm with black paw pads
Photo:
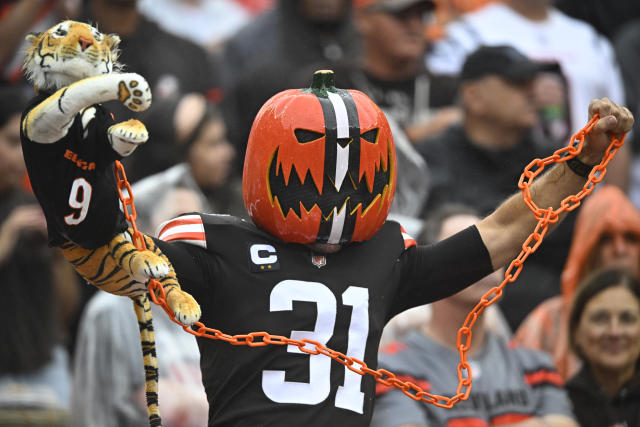
[[67, 134], [79, 111], [101, 102], [118, 100], [133, 111], [151, 105], [147, 81], [136, 73], [104, 74], [63, 87], [27, 114], [22, 122], [32, 141], [52, 143]]

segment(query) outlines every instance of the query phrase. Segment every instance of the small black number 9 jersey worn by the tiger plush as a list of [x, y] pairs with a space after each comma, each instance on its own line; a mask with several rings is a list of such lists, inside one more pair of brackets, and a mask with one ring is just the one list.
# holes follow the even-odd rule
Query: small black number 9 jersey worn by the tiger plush
[[[51, 94], [40, 92], [22, 120]], [[71, 240], [93, 249], [126, 229], [119, 208], [113, 162], [120, 159], [109, 143], [110, 113], [93, 105], [76, 114], [64, 138], [50, 144], [29, 140], [20, 130], [24, 161], [33, 192], [47, 219], [49, 244]]]

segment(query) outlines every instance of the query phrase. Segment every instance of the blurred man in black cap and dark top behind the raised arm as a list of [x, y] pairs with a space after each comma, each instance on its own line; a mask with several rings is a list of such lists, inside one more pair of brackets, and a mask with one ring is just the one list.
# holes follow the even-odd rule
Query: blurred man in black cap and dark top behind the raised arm
[[[541, 70], [510, 46], [481, 47], [469, 55], [460, 75], [463, 123], [417, 146], [430, 171], [427, 211], [457, 202], [487, 215], [517, 190], [532, 159], [551, 154], [548, 142], [533, 133], [533, 85]], [[505, 295], [511, 302], [502, 308], [513, 330], [537, 304], [559, 293], [554, 279], [569, 249], [573, 219], [571, 214], [547, 236], [520, 273], [521, 286]]]

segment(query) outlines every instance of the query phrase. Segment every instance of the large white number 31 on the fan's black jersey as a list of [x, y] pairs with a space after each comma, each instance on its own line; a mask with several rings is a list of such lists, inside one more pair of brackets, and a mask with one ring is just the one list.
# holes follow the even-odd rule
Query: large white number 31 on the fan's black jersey
[[[316, 303], [318, 316], [313, 331], [291, 331], [291, 339], [304, 338], [326, 344], [333, 335], [336, 321], [336, 297], [331, 290], [318, 282], [284, 280], [271, 291], [270, 310], [293, 310], [293, 301]], [[369, 290], [350, 286], [342, 294], [342, 303], [353, 307], [349, 325], [347, 356], [364, 358], [369, 334]], [[301, 353], [290, 345], [287, 351]], [[335, 406], [362, 414], [364, 393], [360, 391], [362, 377], [346, 367], [344, 385], [338, 387]], [[309, 382], [286, 381], [285, 371], [262, 371], [262, 389], [267, 397], [278, 403], [316, 405], [324, 401], [331, 391], [331, 359], [324, 355], [310, 355]]]

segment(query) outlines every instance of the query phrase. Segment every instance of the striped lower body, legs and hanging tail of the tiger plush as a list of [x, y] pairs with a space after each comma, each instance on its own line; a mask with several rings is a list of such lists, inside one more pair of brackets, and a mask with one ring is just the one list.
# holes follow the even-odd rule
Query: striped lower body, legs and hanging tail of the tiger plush
[[151, 304], [145, 283], [157, 278], [165, 291], [167, 304], [177, 319], [192, 324], [200, 318], [200, 306], [182, 291], [173, 266], [153, 240], [144, 236], [148, 250], [140, 251], [131, 243], [131, 230], [116, 235], [107, 245], [85, 249], [72, 242], [62, 245], [62, 253], [89, 283], [103, 291], [128, 296], [140, 328], [140, 343], [145, 370], [145, 392], [149, 425], [161, 426], [158, 408], [158, 359]]

